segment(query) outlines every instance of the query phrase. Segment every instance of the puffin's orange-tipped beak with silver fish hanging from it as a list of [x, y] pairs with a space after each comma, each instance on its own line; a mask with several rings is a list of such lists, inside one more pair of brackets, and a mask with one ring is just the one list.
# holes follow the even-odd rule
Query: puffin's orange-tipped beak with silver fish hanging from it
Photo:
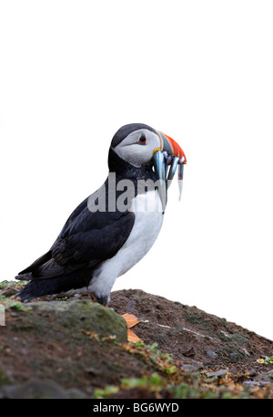
[[187, 158], [176, 141], [161, 131], [158, 131], [157, 133], [160, 138], [161, 146], [160, 149], [154, 151], [154, 166], [158, 183], [158, 193], [164, 211], [167, 204], [167, 189], [177, 172], [177, 167], [179, 200], [181, 199], [184, 165], [187, 163]]

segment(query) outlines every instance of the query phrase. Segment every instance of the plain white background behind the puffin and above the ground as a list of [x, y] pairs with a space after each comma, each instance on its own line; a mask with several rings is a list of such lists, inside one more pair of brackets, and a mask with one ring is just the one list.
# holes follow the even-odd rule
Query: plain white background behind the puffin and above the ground
[[271, 1], [0, 3], [0, 280], [44, 254], [105, 181], [116, 130], [187, 155], [151, 252], [114, 289], [273, 339]]

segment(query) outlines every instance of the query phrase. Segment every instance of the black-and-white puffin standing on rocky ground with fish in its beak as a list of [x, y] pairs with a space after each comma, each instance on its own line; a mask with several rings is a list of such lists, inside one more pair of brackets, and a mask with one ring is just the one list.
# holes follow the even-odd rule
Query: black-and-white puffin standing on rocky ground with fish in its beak
[[48, 252], [15, 276], [29, 281], [15, 298], [84, 291], [108, 306], [116, 278], [157, 240], [167, 189], [178, 172], [181, 196], [186, 163], [182, 148], [162, 131], [144, 123], [117, 130], [106, 181], [76, 207]]

